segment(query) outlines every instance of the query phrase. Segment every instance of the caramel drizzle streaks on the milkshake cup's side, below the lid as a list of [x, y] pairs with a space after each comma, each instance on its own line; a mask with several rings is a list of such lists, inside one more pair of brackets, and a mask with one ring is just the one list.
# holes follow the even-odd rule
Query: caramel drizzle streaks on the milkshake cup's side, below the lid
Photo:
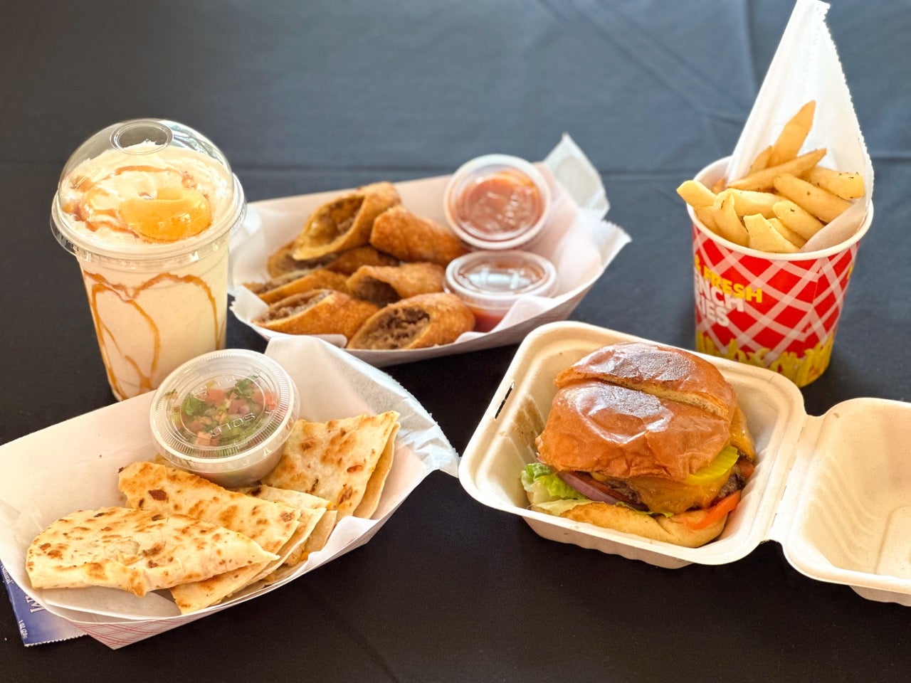
[[[212, 309], [212, 331], [213, 331], [213, 340], [215, 346], [213, 348], [220, 349], [224, 340], [222, 339], [221, 330], [219, 326], [219, 316], [218, 316], [218, 304], [215, 301], [215, 296], [212, 294], [212, 291], [201, 278], [195, 275], [174, 275], [173, 273], [165, 272], [156, 275], [151, 280], [146, 280], [138, 287], [130, 287], [128, 285], [117, 285], [112, 284], [105, 278], [103, 275], [98, 273], [83, 272], [83, 278], [86, 280], [86, 289], [88, 291], [88, 303], [89, 308], [92, 311], [92, 320], [95, 323], [95, 333], [98, 338], [98, 347], [101, 350], [101, 358], [105, 363], [105, 371], [107, 372], [107, 381], [110, 382], [111, 388], [115, 393], [118, 394], [119, 398], [128, 398], [128, 395], [123, 390], [123, 386], [120, 383], [118, 377], [114, 375], [110, 362], [110, 352], [107, 349], [107, 344], [105, 342], [105, 333], [107, 337], [114, 342], [115, 351], [118, 352], [119, 356], [127, 362], [133, 370], [136, 372], [139, 378], [139, 391], [138, 393], [148, 392], [155, 388], [152, 382], [152, 378], [155, 376], [155, 373], [158, 371], [159, 360], [161, 355], [161, 331], [159, 331], [159, 326], [152, 319], [152, 317], [145, 311], [142, 306], [136, 301], [139, 294], [143, 291], [146, 291], [159, 282], [182, 282], [184, 284], [192, 284], [199, 287], [202, 291], [205, 292], [206, 297], [209, 299], [209, 303]], [[120, 352], [119, 345], [117, 343], [117, 338], [110, 331], [110, 328], [101, 320], [101, 316], [98, 314], [97, 307], [97, 297], [99, 294], [109, 291], [118, 296], [120, 301], [123, 301], [128, 306], [131, 306], [138, 314], [148, 323], [149, 329], [152, 331], [153, 335], [153, 345], [152, 345], [152, 362], [148, 370], [148, 374], [142, 372], [139, 368], [139, 363], [136, 359], [124, 355]]]

